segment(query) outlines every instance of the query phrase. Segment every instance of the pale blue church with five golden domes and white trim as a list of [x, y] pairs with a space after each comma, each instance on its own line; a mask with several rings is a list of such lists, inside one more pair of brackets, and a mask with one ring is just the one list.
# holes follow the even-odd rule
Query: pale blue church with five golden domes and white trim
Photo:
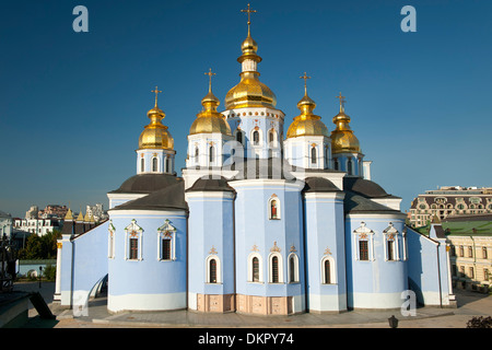
[[400, 308], [408, 291], [424, 305], [452, 305], [441, 226], [412, 231], [401, 199], [371, 180], [343, 96], [329, 132], [304, 74], [300, 115], [284, 125], [259, 80], [249, 21], [241, 49], [241, 81], [222, 112], [207, 73], [181, 176], [154, 91], [136, 175], [107, 194], [109, 220], [81, 233], [66, 218], [55, 300], [77, 310], [107, 285], [114, 313]]

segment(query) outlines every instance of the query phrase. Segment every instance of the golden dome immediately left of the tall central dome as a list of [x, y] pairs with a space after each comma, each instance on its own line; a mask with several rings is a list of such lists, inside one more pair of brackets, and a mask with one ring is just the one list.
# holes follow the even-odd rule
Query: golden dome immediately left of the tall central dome
[[[206, 73], [212, 77], [212, 71]], [[210, 80], [209, 93], [201, 100], [201, 105], [203, 106], [202, 112], [197, 115], [191, 128], [189, 129], [189, 135], [195, 133], [212, 133], [220, 132], [222, 135], [231, 136], [231, 127], [225, 120], [222, 114], [216, 112], [216, 107], [220, 105], [219, 98], [212, 93], [212, 82]]]

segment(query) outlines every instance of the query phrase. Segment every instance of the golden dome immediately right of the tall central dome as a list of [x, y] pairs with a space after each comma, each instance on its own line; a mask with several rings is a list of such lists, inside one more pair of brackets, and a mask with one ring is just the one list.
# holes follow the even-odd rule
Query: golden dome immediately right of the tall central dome
[[304, 97], [297, 103], [301, 115], [294, 118], [289, 127], [286, 138], [296, 138], [300, 136], [326, 136], [330, 137], [328, 128], [321, 121], [321, 117], [314, 115], [316, 103], [304, 92]]

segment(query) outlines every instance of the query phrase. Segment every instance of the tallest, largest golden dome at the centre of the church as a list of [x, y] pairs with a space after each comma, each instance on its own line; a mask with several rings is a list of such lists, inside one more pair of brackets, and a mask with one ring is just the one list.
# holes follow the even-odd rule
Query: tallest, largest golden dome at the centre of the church
[[259, 81], [260, 73], [256, 70], [261, 62], [261, 57], [256, 52], [258, 45], [253, 39], [248, 30], [248, 36], [241, 45], [243, 55], [237, 59], [243, 66], [241, 82], [231, 89], [225, 95], [225, 108], [243, 107], [270, 107], [277, 105], [276, 94], [266, 84]]

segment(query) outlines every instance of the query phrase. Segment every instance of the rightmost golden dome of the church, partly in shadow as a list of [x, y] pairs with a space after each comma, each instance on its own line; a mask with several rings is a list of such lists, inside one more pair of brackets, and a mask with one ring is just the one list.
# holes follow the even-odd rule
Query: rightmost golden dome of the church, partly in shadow
[[361, 145], [350, 129], [350, 117], [345, 114], [342, 102], [340, 113], [333, 117], [333, 124], [337, 127], [331, 131], [331, 153], [360, 153]]

